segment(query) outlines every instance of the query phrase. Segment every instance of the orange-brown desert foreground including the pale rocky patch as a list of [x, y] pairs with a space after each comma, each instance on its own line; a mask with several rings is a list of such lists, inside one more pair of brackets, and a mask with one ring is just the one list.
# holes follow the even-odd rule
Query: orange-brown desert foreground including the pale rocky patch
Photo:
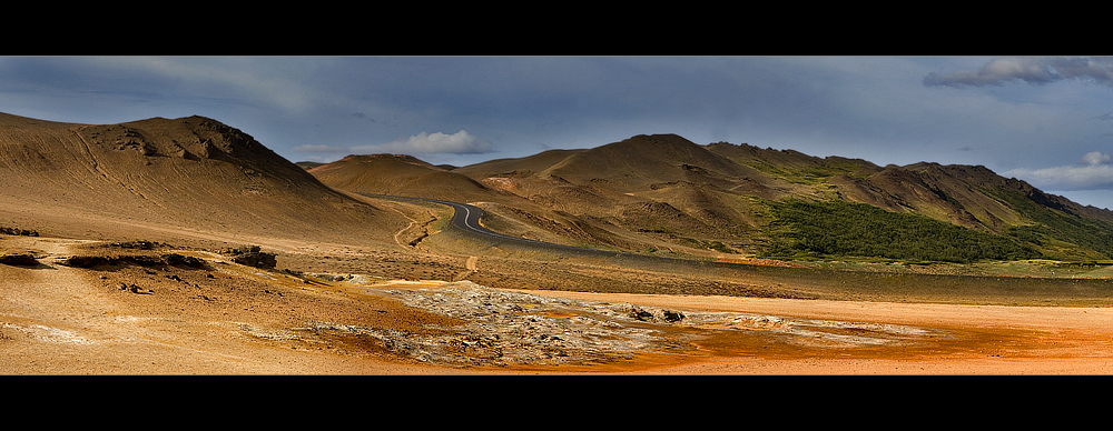
[[[499, 289], [480, 283], [499, 284], [477, 277], [484, 265], [502, 277], [535, 263], [294, 241], [264, 247], [278, 250], [276, 269], [158, 241], [3, 235], [0, 245], [35, 258], [0, 264], [6, 374], [1113, 371], [1113, 309], [1101, 301], [841, 300], [787, 283], [765, 298]], [[682, 275], [608, 272], [609, 284], [630, 285]]]

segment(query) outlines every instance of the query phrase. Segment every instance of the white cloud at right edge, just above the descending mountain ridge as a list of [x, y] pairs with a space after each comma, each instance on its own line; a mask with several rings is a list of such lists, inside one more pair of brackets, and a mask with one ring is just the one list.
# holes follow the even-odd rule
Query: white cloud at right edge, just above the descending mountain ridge
[[1043, 190], [1113, 189], [1113, 157], [1099, 151], [1087, 152], [1077, 166], [1044, 169], [1013, 169], [1006, 176], [1020, 178]]

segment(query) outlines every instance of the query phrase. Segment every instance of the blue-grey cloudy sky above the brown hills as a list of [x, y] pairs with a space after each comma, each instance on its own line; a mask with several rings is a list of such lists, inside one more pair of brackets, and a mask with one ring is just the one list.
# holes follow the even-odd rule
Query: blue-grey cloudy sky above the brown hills
[[981, 164], [1113, 209], [1113, 58], [0, 57], [0, 112], [208, 117], [289, 161], [466, 166], [676, 133]]

